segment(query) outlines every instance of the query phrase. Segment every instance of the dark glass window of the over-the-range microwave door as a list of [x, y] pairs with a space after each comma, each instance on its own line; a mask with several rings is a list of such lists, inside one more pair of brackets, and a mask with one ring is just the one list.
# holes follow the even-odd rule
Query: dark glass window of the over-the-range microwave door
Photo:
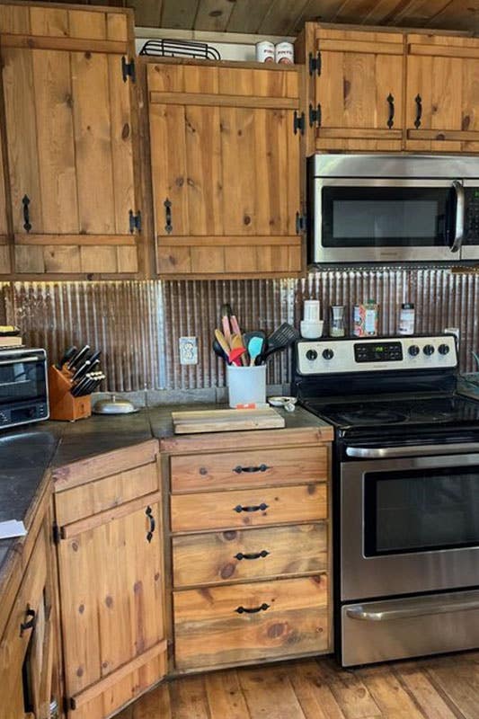
[[321, 189], [324, 247], [448, 245], [448, 186], [358, 186]]

